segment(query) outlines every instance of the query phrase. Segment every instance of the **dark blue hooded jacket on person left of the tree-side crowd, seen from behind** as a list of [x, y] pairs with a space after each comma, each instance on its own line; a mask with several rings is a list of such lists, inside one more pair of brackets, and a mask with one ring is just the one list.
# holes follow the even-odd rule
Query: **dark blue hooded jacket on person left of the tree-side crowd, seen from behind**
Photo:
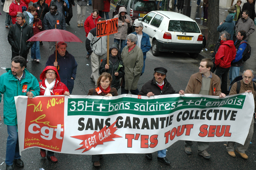
[[233, 21], [233, 16], [228, 15], [227, 18], [225, 19], [225, 22], [217, 27], [217, 31], [219, 32], [227, 31], [231, 35], [230, 40], [233, 40], [233, 35], [234, 35], [234, 24], [232, 21]]

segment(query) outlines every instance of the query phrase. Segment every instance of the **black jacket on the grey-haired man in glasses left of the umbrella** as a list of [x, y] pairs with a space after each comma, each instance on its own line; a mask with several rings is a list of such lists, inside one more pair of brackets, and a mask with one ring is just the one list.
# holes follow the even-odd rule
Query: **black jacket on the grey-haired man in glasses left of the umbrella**
[[[27, 22], [21, 28], [17, 21], [9, 30], [8, 42], [12, 46], [12, 52], [19, 55], [26, 55], [34, 42], [29, 42], [28, 39], [34, 35], [32, 27]], [[28, 42], [27, 42], [28, 41]]]

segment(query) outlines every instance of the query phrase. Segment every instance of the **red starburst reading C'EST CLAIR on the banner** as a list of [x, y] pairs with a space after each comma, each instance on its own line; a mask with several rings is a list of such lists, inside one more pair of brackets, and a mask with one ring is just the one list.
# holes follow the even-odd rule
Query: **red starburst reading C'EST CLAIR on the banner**
[[113, 138], [122, 137], [114, 134], [117, 130], [117, 127], [114, 127], [116, 121], [110, 127], [107, 128], [107, 126], [105, 126], [99, 132], [94, 131], [93, 134], [71, 136], [83, 141], [80, 143], [80, 145], [83, 146], [76, 150], [84, 149], [83, 152], [86, 152], [89, 151], [92, 147], [95, 148], [97, 145], [103, 145], [104, 142], [115, 141]]

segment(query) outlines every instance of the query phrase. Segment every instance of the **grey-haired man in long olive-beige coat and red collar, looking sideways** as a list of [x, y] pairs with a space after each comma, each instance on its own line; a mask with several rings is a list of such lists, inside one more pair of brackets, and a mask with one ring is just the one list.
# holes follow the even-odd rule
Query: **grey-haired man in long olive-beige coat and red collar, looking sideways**
[[124, 62], [124, 80], [121, 85], [121, 94], [128, 94], [129, 91], [133, 95], [138, 95], [137, 88], [140, 74], [143, 67], [143, 52], [137, 43], [137, 36], [130, 34], [127, 36], [127, 46], [121, 54]]

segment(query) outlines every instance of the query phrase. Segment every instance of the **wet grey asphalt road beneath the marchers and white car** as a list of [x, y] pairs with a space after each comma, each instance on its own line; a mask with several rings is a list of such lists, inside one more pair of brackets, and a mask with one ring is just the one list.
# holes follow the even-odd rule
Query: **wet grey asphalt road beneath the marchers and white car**
[[[193, 5], [195, 1], [192, 2]], [[111, 6], [114, 8], [113, 6]], [[7, 34], [9, 28], [4, 27], [5, 12], [0, 7], [0, 67], [9, 68], [11, 66], [11, 46], [8, 43]], [[201, 10], [201, 9], [200, 9]], [[87, 6], [86, 17], [92, 12], [92, 6]], [[109, 16], [112, 16], [114, 9], [111, 9]], [[73, 18], [70, 21], [71, 26], [67, 26], [67, 31], [78, 36], [85, 42], [85, 32], [83, 27], [77, 27], [76, 24], [76, 6], [73, 7]], [[110, 46], [114, 42], [114, 36], [110, 35]], [[40, 63], [32, 61], [28, 55], [28, 71], [33, 73], [39, 81], [39, 75], [45, 67], [45, 63], [49, 57], [49, 44], [44, 42], [40, 46], [41, 60]], [[68, 52], [75, 56], [78, 63], [77, 74], [73, 95], [87, 95], [88, 90], [94, 87], [94, 82], [90, 80], [91, 59], [86, 59], [87, 54], [85, 43], [68, 43]], [[251, 60], [255, 63], [255, 57]], [[172, 84], [175, 90], [185, 90], [191, 74], [198, 72], [200, 59], [189, 58], [187, 53], [161, 53], [159, 57], [152, 55], [151, 50], [147, 54], [145, 73], [140, 77], [138, 89], [141, 89], [143, 84], [153, 78], [154, 68], [163, 66], [167, 68], [167, 80]], [[87, 66], [87, 64], [89, 66]], [[0, 69], [0, 75], [5, 73], [4, 69]], [[120, 94], [120, 90], [118, 92]], [[3, 99], [3, 97], [2, 97]], [[3, 102], [0, 103], [0, 115], [3, 117]], [[243, 126], [243, 125], [237, 125]], [[0, 122], [0, 170], [5, 169], [5, 151], [7, 139], [7, 126], [4, 126], [3, 121]], [[41, 158], [39, 149], [32, 148], [22, 151], [21, 159], [24, 161], [24, 167], [20, 168], [14, 165], [18, 170], [38, 170], [44, 168], [45, 170], [73, 170], [73, 169], [255, 169], [256, 168], [256, 137], [252, 138], [252, 144], [246, 154], [249, 156], [248, 160], [244, 160], [239, 155], [236, 158], [230, 157], [225, 149], [226, 142], [213, 142], [207, 151], [212, 155], [209, 160], [197, 154], [197, 145], [192, 146], [192, 155], [187, 155], [184, 152], [183, 141], [174, 143], [167, 148], [167, 158], [172, 162], [170, 166], [164, 165], [157, 161], [157, 152], [153, 153], [153, 159], [148, 160], [144, 154], [109, 154], [104, 155], [100, 160], [101, 166], [96, 168], [91, 162], [90, 155], [72, 155], [55, 153], [58, 158], [57, 163], [49, 161], [47, 158]]]

